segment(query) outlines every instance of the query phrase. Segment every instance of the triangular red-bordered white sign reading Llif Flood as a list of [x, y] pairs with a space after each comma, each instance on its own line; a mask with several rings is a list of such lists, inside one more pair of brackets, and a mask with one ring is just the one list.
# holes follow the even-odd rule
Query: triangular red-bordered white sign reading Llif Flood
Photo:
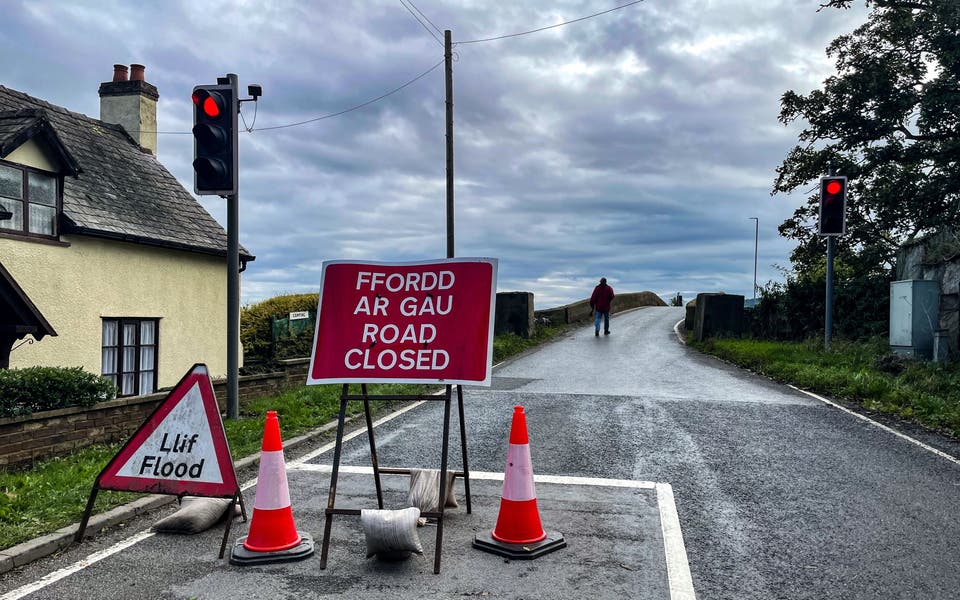
[[104, 490], [231, 498], [239, 490], [206, 365], [194, 365], [97, 477]]

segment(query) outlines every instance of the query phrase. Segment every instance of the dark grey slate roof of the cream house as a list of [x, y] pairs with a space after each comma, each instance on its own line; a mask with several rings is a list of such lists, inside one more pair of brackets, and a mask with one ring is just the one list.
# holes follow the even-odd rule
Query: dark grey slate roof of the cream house
[[[0, 85], [0, 157], [30, 127], [45, 126], [38, 121], [60, 142], [67, 171], [78, 173], [64, 177], [63, 233], [226, 256], [223, 227], [122, 127]], [[240, 255], [253, 259], [242, 247]]]

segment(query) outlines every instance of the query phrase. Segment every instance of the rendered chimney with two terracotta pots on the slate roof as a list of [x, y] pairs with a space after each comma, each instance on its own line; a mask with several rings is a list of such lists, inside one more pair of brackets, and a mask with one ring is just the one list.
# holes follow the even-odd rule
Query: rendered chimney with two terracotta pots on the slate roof
[[127, 130], [142, 148], [157, 155], [156, 86], [143, 79], [143, 65], [113, 65], [113, 81], [100, 84], [100, 120]]

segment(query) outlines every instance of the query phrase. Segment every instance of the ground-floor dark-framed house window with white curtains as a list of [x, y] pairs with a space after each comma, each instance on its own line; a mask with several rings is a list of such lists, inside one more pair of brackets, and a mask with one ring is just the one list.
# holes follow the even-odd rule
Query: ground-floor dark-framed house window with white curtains
[[157, 391], [158, 319], [103, 319], [103, 376], [120, 396]]

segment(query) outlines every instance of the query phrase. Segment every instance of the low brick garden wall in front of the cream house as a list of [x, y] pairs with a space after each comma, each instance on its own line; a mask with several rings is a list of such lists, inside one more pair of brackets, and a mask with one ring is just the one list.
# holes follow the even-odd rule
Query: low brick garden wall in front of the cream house
[[[240, 401], [246, 402], [303, 385], [309, 359], [281, 361], [282, 371], [240, 377]], [[220, 410], [226, 409], [226, 381], [214, 380]], [[150, 416], [167, 392], [119, 398], [91, 408], [49, 410], [0, 419], [0, 467], [25, 466], [83, 446], [124, 442]]]

